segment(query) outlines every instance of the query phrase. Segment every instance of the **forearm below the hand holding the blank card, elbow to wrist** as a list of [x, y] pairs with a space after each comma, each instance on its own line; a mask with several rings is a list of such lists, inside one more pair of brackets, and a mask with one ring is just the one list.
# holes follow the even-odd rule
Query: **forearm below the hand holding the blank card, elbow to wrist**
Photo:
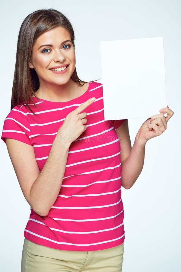
[[121, 183], [125, 189], [132, 187], [143, 169], [145, 144], [137, 134], [129, 156], [121, 164]]

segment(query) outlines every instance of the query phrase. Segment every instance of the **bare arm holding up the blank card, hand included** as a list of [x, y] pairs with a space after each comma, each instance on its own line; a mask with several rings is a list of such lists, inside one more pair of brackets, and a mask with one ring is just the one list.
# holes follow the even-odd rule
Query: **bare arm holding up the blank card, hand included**
[[[121, 148], [121, 182], [125, 189], [133, 186], [143, 169], [145, 144], [149, 139], [161, 135], [167, 129], [168, 120], [173, 116], [173, 111], [168, 106], [160, 112], [162, 113], [153, 115], [143, 123], [132, 148], [128, 120], [116, 129]], [[165, 117], [164, 113], [168, 116]]]

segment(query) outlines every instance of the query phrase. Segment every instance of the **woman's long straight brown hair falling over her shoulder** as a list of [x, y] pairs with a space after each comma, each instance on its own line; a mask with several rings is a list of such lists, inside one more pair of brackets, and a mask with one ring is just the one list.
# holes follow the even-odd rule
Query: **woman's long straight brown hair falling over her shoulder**
[[[11, 96], [11, 110], [14, 108], [14, 106], [25, 103], [30, 111], [36, 115], [28, 105], [29, 99], [31, 99], [32, 103], [35, 105], [32, 95], [34, 95], [40, 101], [35, 93], [40, 86], [39, 79], [36, 71], [29, 68], [32, 48], [33, 44], [41, 34], [58, 26], [65, 28], [69, 32], [71, 42], [75, 48], [75, 35], [72, 25], [65, 15], [57, 10], [50, 8], [34, 11], [28, 15], [21, 24], [17, 40], [16, 64]], [[84, 83], [91, 82], [82, 81], [78, 77], [76, 69], [74, 70], [71, 79], [81, 86], [84, 85]], [[37, 105], [35, 106], [38, 108]]]

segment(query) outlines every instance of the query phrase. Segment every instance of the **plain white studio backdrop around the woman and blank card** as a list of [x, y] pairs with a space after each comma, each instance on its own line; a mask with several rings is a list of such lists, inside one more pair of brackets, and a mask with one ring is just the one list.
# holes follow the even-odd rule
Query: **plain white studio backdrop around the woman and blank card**
[[[71, 21], [75, 31], [78, 76], [87, 81], [101, 77], [101, 40], [164, 37], [167, 104], [174, 115], [168, 121], [168, 129], [162, 135], [147, 142], [144, 167], [136, 183], [129, 190], [122, 188], [125, 209], [125, 254], [122, 271], [181, 271], [178, 110], [181, 74], [180, 1], [32, 0], [27, 2], [17, 0], [2, 2], [0, 19], [1, 131], [4, 119], [10, 112], [18, 32], [24, 18], [41, 8], [58, 9]], [[107, 57], [116, 58], [117, 50], [116, 47], [110, 48], [110, 54]], [[108, 67], [108, 69], [112, 68]], [[155, 114], [157, 113], [159, 109]], [[145, 119], [129, 120], [132, 145], [144, 121]], [[21, 271], [24, 228], [30, 215], [30, 206], [23, 196], [6, 145], [2, 140], [0, 148], [0, 270], [19, 272]]]

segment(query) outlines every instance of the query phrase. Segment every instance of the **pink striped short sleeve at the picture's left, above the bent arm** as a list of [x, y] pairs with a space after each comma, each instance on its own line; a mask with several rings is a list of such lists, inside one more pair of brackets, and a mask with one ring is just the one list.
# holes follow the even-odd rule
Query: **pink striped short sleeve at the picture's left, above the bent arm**
[[5, 118], [1, 139], [5, 143], [5, 138], [11, 138], [31, 145], [29, 134], [27, 115], [20, 106], [15, 106]]

